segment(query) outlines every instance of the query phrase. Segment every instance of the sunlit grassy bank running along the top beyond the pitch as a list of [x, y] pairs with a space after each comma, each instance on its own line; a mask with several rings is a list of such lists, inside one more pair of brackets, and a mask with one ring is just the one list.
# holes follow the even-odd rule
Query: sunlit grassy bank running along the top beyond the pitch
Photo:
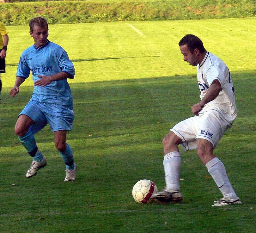
[[95, 0], [0, 4], [0, 20], [5, 25], [27, 25], [37, 15], [45, 17], [49, 24], [253, 17], [256, 15], [256, 1]]

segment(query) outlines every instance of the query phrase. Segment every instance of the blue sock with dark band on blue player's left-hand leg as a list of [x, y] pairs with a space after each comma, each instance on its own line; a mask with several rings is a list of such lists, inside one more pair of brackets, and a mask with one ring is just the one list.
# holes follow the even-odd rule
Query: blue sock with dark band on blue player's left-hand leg
[[23, 147], [27, 150], [28, 154], [33, 157], [34, 161], [41, 161], [43, 159], [42, 153], [36, 146], [36, 139], [29, 130], [25, 135], [18, 137]]

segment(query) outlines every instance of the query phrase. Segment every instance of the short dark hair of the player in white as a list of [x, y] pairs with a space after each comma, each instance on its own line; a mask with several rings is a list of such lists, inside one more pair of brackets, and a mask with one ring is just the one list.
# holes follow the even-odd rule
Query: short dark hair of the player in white
[[194, 52], [195, 49], [198, 49], [200, 53], [204, 53], [206, 50], [204, 49], [203, 42], [195, 35], [187, 34], [185, 35], [179, 42], [179, 46], [187, 45], [188, 49], [191, 53]]

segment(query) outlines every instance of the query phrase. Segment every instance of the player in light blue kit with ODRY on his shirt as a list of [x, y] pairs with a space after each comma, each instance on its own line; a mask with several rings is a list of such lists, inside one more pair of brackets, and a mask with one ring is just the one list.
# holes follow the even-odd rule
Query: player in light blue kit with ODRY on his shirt
[[49, 124], [54, 133], [55, 146], [66, 164], [64, 181], [73, 181], [76, 178], [76, 164], [72, 149], [66, 143], [66, 135], [72, 129], [74, 118], [72, 94], [67, 81], [74, 78], [74, 66], [66, 51], [47, 39], [46, 19], [33, 18], [29, 27], [35, 44], [21, 54], [15, 85], [10, 92], [12, 97], [18, 94], [20, 85], [32, 72], [33, 95], [15, 125], [15, 133], [21, 144], [33, 157], [26, 177], [35, 176], [46, 165], [46, 159], [36, 145], [34, 134]]

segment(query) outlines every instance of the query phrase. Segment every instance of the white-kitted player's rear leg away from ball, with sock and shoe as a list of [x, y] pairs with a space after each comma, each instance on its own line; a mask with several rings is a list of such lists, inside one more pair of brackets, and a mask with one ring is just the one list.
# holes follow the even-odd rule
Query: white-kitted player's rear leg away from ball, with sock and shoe
[[213, 180], [217, 184], [220, 192], [223, 194], [223, 198], [215, 201], [212, 206], [224, 206], [232, 204], [242, 204], [239, 198], [236, 196], [234, 189], [232, 188], [228, 179], [226, 169], [223, 163], [214, 156], [213, 145], [211, 142], [205, 139], [198, 139], [197, 154], [201, 159], [208, 172], [212, 176]]

